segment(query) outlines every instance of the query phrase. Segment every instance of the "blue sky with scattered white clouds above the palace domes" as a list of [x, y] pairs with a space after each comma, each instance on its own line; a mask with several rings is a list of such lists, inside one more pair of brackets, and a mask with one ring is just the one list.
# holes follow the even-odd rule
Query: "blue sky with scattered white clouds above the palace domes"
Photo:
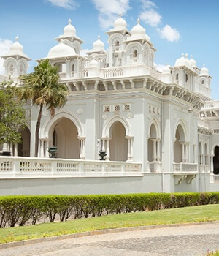
[[[0, 56], [19, 37], [24, 53], [32, 59], [45, 58], [57, 45], [69, 18], [84, 41], [82, 51], [93, 48], [100, 35], [109, 48], [105, 33], [113, 28], [118, 13], [131, 31], [140, 19], [157, 49], [155, 64], [174, 66], [182, 53], [196, 60], [197, 67], [209, 69], [212, 99], [219, 99], [219, 1], [218, 0], [0, 0]], [[0, 75], [4, 75], [0, 59]]]

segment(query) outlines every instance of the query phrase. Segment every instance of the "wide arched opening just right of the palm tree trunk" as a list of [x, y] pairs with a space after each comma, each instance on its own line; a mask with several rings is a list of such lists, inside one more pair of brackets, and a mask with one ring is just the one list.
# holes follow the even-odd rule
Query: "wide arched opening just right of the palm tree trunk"
[[60, 118], [53, 126], [53, 146], [58, 147], [58, 158], [80, 159], [80, 140], [75, 124], [69, 118]]

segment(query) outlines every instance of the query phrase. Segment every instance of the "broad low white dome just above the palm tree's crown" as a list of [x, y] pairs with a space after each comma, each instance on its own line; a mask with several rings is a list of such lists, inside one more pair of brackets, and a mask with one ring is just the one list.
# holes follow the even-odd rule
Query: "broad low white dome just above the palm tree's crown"
[[64, 44], [63, 39], [59, 42], [58, 45], [53, 46], [50, 49], [47, 57], [48, 58], [58, 58], [58, 57], [66, 57], [66, 56], [74, 56], [76, 53], [72, 47]]

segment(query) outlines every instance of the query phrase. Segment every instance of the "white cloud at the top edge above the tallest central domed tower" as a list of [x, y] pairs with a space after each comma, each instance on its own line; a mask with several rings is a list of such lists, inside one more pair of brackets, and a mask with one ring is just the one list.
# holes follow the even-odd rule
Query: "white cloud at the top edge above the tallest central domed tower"
[[99, 25], [102, 29], [109, 29], [118, 17], [118, 13], [125, 14], [130, 8], [129, 0], [91, 0], [99, 12]]

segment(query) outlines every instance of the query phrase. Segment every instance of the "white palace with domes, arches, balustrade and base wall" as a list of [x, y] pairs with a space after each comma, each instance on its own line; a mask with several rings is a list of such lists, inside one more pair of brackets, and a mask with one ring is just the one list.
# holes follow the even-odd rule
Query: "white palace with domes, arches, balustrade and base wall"
[[[1, 195], [219, 190], [219, 102], [211, 99], [208, 69], [187, 54], [156, 68], [140, 20], [128, 31], [119, 16], [107, 35], [108, 50], [98, 37], [85, 56], [71, 20], [55, 38], [45, 59], [58, 66], [68, 102], [54, 118], [43, 111], [38, 158], [38, 109], [26, 104], [23, 143], [0, 148], [12, 152], [0, 157]], [[0, 80], [19, 84], [30, 59], [18, 38], [1, 58]], [[58, 147], [57, 158], [49, 146]]]

